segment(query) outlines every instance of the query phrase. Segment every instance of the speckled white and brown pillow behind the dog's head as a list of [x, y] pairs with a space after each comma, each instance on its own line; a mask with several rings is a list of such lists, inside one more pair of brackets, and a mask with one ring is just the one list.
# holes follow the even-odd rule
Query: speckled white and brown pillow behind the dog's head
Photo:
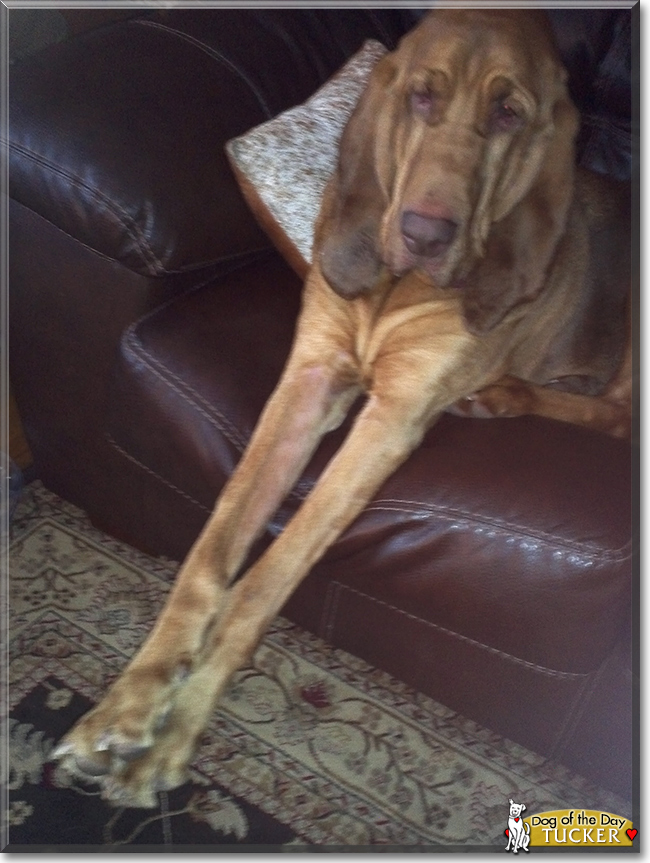
[[304, 104], [226, 144], [248, 205], [301, 278], [311, 264], [314, 224], [343, 128], [386, 53], [381, 43], [367, 41]]

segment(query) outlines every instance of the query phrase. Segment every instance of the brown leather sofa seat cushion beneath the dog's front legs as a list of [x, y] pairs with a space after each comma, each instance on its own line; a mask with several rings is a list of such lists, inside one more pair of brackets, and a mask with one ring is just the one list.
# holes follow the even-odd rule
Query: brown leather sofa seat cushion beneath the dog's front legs
[[[281, 372], [299, 297], [294, 274], [269, 255], [125, 334], [109, 434], [206, 515]], [[271, 533], [347, 427], [323, 441]], [[621, 442], [537, 418], [447, 415], [318, 577], [520, 662], [581, 675], [629, 614], [629, 501]]]

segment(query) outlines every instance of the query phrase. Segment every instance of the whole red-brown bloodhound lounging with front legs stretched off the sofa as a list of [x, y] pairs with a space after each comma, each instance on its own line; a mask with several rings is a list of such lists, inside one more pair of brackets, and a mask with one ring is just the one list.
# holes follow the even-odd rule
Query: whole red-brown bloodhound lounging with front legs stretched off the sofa
[[[436, 10], [378, 63], [277, 389], [149, 638], [55, 752], [106, 799], [151, 806], [186, 780], [229, 678], [443, 411], [628, 434], [630, 204], [576, 169], [578, 122], [542, 12]], [[339, 452], [235, 581], [360, 393]]]

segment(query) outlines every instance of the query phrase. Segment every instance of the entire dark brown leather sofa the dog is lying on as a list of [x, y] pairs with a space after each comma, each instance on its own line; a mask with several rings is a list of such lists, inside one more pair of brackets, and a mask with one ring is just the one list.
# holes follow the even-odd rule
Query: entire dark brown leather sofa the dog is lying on
[[[580, 159], [629, 176], [630, 13], [553, 14]], [[415, 17], [149, 12], [12, 69], [12, 387], [38, 476], [108, 532], [184, 556], [289, 348], [300, 284], [224, 142], [304, 100], [365, 38], [393, 46]], [[445, 416], [284, 613], [629, 797], [633, 472], [634, 449], [601, 434]]]

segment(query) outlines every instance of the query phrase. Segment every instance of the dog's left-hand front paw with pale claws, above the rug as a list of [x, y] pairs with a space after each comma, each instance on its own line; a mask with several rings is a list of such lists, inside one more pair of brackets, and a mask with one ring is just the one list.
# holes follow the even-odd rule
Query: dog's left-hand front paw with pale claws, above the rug
[[187, 665], [133, 668], [113, 684], [52, 751], [68, 773], [90, 781], [121, 775], [165, 728]]

